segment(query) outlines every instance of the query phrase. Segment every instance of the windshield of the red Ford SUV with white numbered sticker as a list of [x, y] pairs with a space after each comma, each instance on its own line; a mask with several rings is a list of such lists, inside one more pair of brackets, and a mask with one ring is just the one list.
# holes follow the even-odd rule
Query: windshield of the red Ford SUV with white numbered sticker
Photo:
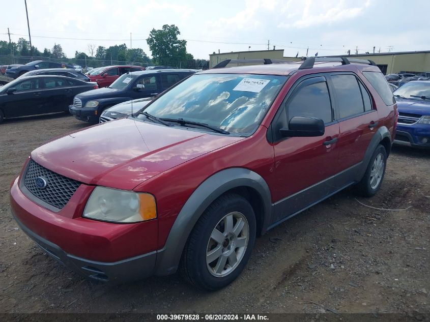
[[[193, 75], [145, 111], [157, 118], [182, 118], [249, 135], [259, 126], [286, 79], [272, 75]], [[144, 120], [146, 116], [137, 118]]]

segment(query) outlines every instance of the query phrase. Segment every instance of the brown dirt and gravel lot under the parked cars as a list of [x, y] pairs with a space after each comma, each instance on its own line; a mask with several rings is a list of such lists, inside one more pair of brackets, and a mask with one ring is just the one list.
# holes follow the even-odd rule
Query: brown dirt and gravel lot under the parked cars
[[348, 189], [274, 228], [223, 290], [178, 275], [108, 287], [44, 254], [9, 210], [28, 154], [85, 126], [65, 114], [0, 125], [0, 312], [430, 312], [430, 151], [394, 147], [377, 196]]

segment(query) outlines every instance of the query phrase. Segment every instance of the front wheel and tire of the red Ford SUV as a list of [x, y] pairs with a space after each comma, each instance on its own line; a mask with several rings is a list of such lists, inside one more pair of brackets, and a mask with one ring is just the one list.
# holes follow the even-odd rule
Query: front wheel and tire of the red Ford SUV
[[243, 271], [255, 242], [255, 214], [237, 194], [216, 199], [191, 231], [181, 259], [182, 276], [192, 285], [216, 290]]

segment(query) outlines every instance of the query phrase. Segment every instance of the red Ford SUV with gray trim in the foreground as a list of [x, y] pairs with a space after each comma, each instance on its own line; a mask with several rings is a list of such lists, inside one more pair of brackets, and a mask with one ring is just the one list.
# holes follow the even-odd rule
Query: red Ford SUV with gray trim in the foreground
[[374, 195], [397, 119], [378, 67], [265, 63], [196, 73], [137, 115], [37, 148], [11, 188], [19, 226], [90, 279], [180, 269], [213, 290], [268, 229], [353, 184]]

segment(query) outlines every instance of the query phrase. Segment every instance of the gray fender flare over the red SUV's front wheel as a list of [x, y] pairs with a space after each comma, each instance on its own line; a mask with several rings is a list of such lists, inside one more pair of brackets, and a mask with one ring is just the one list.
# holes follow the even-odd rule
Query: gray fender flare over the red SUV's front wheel
[[164, 247], [157, 252], [154, 274], [169, 275], [176, 272], [190, 232], [206, 208], [224, 192], [241, 186], [253, 188], [261, 195], [265, 212], [263, 227], [267, 227], [272, 207], [266, 181], [261, 175], [245, 168], [221, 170], [200, 184], [185, 202], [171, 227]]

